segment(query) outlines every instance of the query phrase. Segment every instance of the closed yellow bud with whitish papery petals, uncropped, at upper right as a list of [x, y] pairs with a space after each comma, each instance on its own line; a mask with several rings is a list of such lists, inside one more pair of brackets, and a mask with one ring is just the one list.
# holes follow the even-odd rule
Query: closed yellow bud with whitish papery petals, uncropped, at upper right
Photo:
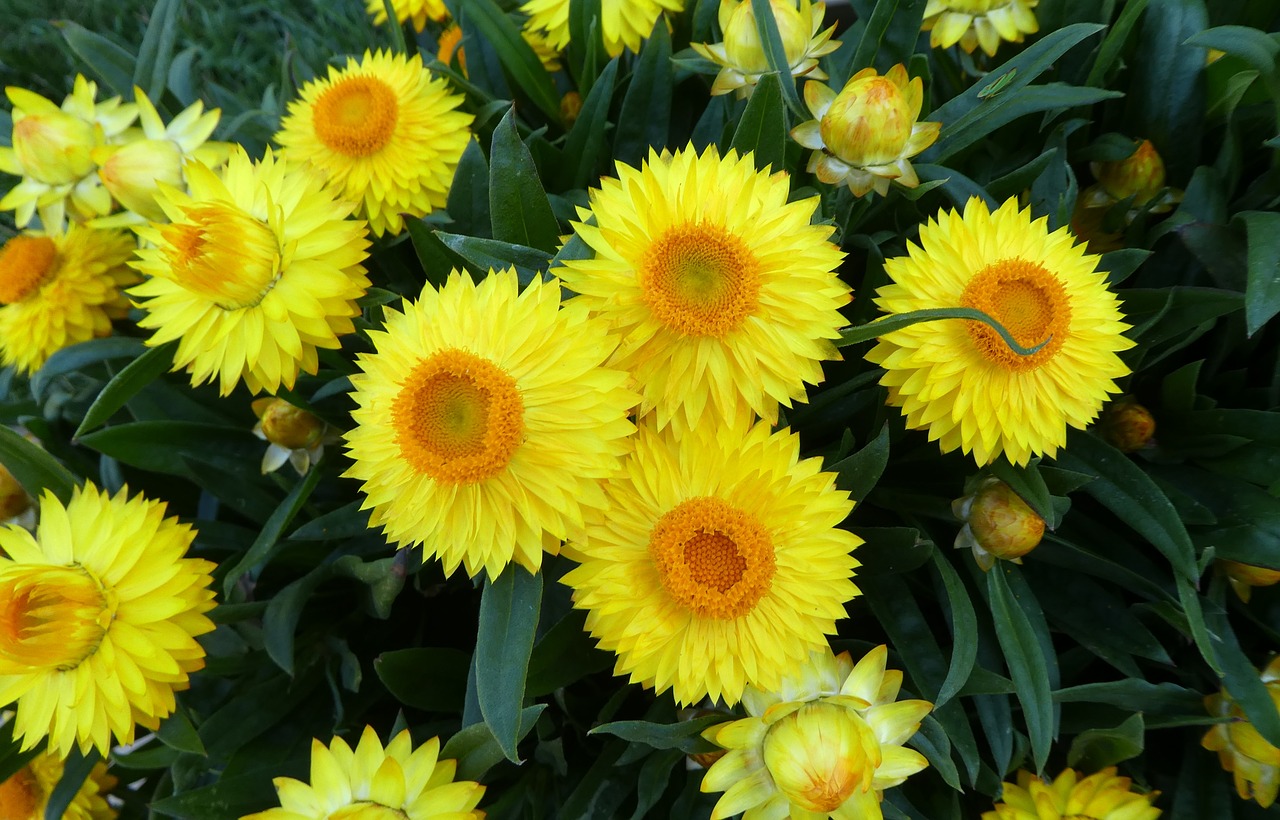
[[828, 185], [844, 183], [856, 196], [884, 196], [895, 180], [906, 188], [920, 184], [910, 160], [933, 145], [942, 124], [916, 122], [924, 84], [919, 77], [908, 79], [901, 63], [883, 77], [864, 68], [838, 95], [805, 83], [804, 100], [814, 119], [792, 128], [791, 138], [814, 150], [810, 174]]

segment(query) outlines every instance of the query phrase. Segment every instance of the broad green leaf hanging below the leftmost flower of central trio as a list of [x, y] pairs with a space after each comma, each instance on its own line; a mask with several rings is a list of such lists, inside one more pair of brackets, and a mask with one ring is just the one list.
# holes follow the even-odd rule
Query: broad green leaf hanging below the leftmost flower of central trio
[[541, 601], [541, 573], [515, 564], [497, 581], [486, 580], [480, 596], [476, 695], [485, 724], [512, 762], [520, 762], [520, 715]]

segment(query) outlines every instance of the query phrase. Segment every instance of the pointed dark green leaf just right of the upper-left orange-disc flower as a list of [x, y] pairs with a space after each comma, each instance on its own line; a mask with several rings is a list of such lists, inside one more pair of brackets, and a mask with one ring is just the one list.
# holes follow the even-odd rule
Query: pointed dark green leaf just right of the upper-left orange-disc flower
[[534, 157], [516, 132], [515, 116], [516, 110], [511, 109], [502, 118], [489, 150], [493, 238], [554, 253], [559, 244], [559, 226], [538, 179]]

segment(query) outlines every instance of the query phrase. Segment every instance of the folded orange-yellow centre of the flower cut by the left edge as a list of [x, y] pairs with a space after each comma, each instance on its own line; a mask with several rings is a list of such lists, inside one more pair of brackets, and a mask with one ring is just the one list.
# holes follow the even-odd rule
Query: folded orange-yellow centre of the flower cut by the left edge
[[97, 651], [113, 617], [82, 567], [9, 567], [0, 574], [0, 674], [74, 669]]

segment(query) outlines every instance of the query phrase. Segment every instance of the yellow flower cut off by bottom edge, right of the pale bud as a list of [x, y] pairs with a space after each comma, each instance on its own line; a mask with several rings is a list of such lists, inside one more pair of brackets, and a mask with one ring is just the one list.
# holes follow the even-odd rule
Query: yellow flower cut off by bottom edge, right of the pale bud
[[1019, 771], [1016, 784], [1004, 784], [1005, 802], [983, 812], [982, 820], [1156, 820], [1160, 810], [1152, 803], [1160, 792], [1142, 794], [1130, 791], [1132, 784], [1129, 778], [1116, 775], [1115, 766], [1087, 778], [1068, 769], [1052, 783]]

